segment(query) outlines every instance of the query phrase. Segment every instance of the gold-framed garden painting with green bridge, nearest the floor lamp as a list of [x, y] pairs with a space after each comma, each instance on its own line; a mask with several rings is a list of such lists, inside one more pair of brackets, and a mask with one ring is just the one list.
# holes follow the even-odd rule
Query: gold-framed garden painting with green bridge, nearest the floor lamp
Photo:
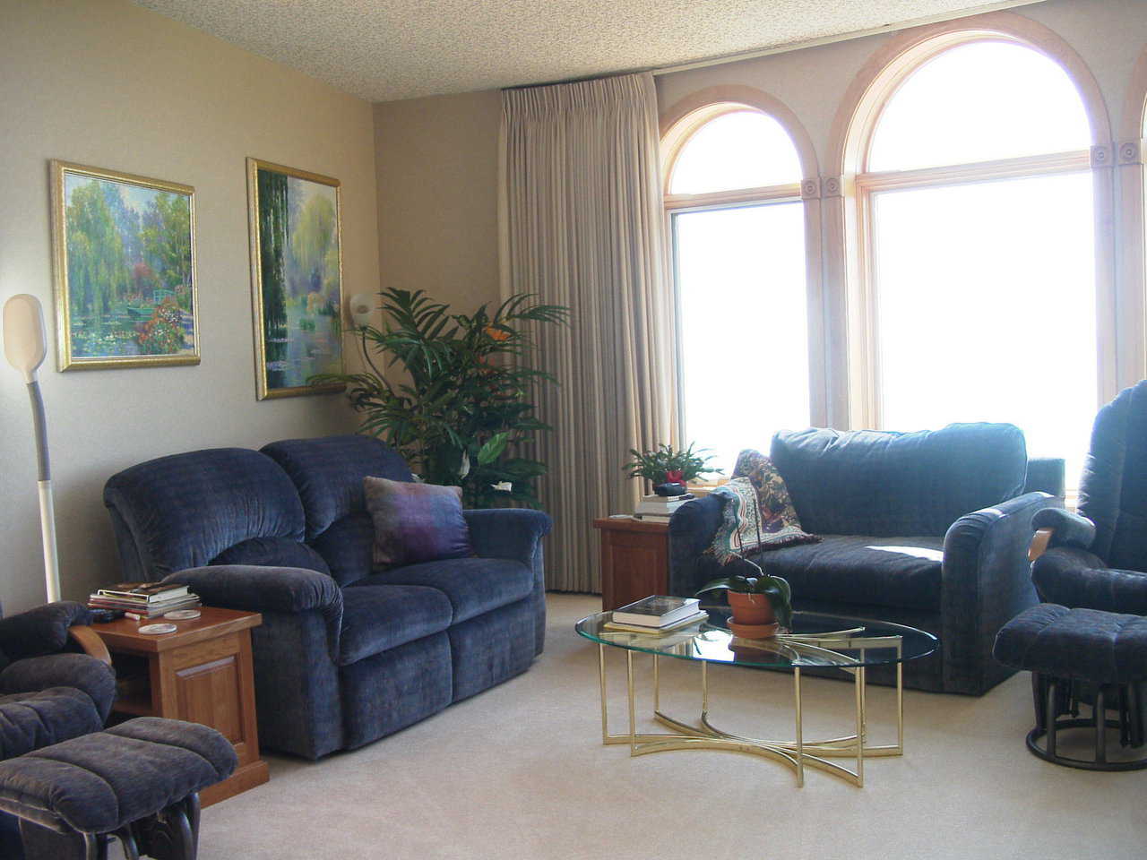
[[61, 370], [197, 365], [195, 189], [52, 162]]

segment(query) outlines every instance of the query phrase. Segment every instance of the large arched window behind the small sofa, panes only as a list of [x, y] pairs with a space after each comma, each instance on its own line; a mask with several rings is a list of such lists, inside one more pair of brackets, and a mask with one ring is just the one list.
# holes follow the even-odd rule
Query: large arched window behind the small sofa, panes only
[[902, 70], [861, 142], [869, 420], [1012, 422], [1074, 484], [1100, 375], [1089, 115], [1047, 55], [970, 38]]

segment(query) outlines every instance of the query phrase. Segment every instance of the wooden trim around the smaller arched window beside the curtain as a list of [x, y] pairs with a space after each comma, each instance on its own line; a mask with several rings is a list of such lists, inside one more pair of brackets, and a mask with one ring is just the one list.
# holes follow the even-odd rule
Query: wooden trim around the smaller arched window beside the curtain
[[[738, 188], [711, 194], [669, 194], [670, 180], [677, 158], [689, 138], [705, 123], [736, 110], [756, 110], [775, 119], [788, 133], [796, 147], [801, 162], [802, 180], [780, 186], [762, 188]], [[805, 236], [805, 290], [809, 321], [809, 409], [813, 424], [828, 424], [828, 373], [826, 366], [825, 300], [822, 290], [822, 244], [820, 211], [820, 167], [812, 138], [796, 115], [779, 99], [741, 85], [713, 86], [699, 89], [681, 97], [661, 117], [662, 143], [662, 194], [665, 212], [665, 235], [672, 235], [674, 212], [721, 209], [747, 203], [804, 202]], [[672, 255], [672, 249], [666, 249]], [[673, 272], [672, 258], [665, 260], [665, 271]], [[676, 279], [676, 274], [674, 274]], [[674, 295], [677, 294], [674, 284]], [[674, 335], [676, 354], [681, 361], [680, 314], [677, 316]], [[680, 378], [680, 374], [678, 374]], [[678, 405], [682, 402], [680, 388]], [[684, 408], [677, 409], [680, 438], [685, 438]]]

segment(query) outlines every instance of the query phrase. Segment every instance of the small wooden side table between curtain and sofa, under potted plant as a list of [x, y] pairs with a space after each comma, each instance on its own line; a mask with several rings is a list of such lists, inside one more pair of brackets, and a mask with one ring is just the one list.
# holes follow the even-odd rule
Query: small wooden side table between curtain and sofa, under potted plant
[[602, 609], [669, 593], [669, 523], [600, 517], [593, 527], [601, 531]]

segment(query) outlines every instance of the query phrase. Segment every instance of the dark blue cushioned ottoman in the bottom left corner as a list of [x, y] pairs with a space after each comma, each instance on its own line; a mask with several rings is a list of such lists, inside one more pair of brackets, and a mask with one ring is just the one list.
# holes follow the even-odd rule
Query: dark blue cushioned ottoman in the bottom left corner
[[195, 860], [198, 792], [235, 769], [213, 728], [139, 717], [0, 763], [0, 810], [19, 819], [26, 860]]

